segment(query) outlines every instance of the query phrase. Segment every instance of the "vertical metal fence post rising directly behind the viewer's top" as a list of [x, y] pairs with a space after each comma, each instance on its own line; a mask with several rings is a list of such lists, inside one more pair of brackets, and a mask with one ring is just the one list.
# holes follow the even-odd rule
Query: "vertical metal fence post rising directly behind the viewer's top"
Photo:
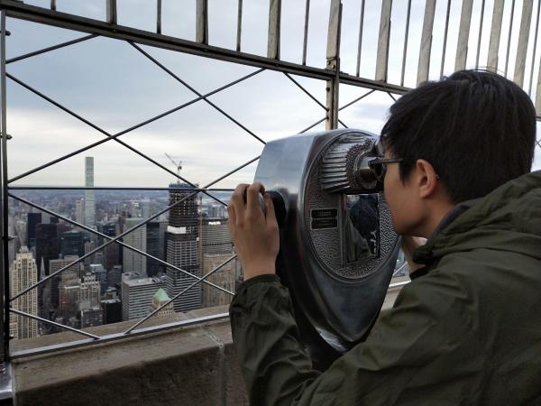
[[326, 81], [326, 129], [338, 128], [338, 89], [340, 88], [340, 28], [342, 2], [331, 1], [329, 31], [327, 35], [326, 69], [334, 70], [335, 77]]

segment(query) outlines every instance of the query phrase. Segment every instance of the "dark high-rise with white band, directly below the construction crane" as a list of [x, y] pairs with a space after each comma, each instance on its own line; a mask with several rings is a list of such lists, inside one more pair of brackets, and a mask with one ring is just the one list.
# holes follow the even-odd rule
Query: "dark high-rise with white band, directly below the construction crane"
[[[166, 261], [197, 276], [199, 269], [197, 195], [188, 188], [190, 186], [186, 183], [170, 184], [170, 205], [179, 201], [181, 203], [170, 209]], [[201, 285], [196, 284], [185, 291], [194, 281], [196, 279], [186, 273], [170, 266], [167, 267], [166, 284], [170, 298], [184, 291], [173, 302], [175, 311], [187, 311], [201, 307]]]

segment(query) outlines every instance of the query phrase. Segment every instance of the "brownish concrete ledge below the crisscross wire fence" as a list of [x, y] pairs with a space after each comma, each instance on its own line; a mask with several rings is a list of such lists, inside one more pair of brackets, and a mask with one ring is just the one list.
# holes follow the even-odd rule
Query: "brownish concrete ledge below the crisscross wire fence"
[[[391, 288], [382, 312], [401, 290]], [[224, 313], [227, 306], [151, 318], [143, 326]], [[135, 320], [87, 328], [98, 336], [124, 331]], [[80, 340], [59, 333], [15, 340], [12, 349]], [[157, 331], [138, 337], [47, 355], [15, 359], [17, 405], [246, 405], [243, 376], [234, 353], [229, 320]]]

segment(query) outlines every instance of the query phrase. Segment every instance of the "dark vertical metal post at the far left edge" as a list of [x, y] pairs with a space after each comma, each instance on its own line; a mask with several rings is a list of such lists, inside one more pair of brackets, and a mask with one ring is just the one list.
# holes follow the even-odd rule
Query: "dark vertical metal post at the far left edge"
[[6, 119], [6, 88], [5, 88], [5, 10], [2, 10], [2, 15], [0, 17], [2, 19], [1, 22], [1, 30], [0, 33], [0, 93], [1, 93], [1, 100], [2, 103], [2, 129], [1, 129], [1, 137], [2, 137], [2, 154], [1, 154], [1, 173], [2, 173], [2, 198], [0, 202], [0, 208], [2, 211], [2, 216], [0, 216], [0, 226], [2, 228], [2, 254], [1, 254], [1, 260], [2, 264], [0, 265], [2, 267], [2, 274], [3, 278], [0, 278], [0, 291], [2, 294], [0, 294], [0, 311], [2, 311], [2, 323], [0, 323], [0, 333], [2, 335], [3, 339], [3, 346], [2, 346], [2, 358], [1, 361], [5, 361], [7, 359], [7, 356], [9, 355], [9, 300], [6, 298], [10, 297], [9, 294], [9, 257], [8, 257], [8, 244], [9, 244], [9, 236], [8, 236], [8, 229], [7, 229], [7, 223], [8, 223], [8, 199], [7, 199], [7, 127], [5, 123]]

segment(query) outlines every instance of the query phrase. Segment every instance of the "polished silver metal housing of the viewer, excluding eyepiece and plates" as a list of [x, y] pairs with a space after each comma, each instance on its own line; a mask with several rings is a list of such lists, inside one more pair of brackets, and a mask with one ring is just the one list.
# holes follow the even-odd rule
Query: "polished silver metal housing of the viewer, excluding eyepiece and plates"
[[[319, 183], [321, 162], [329, 147], [358, 130], [335, 130], [293, 136], [267, 143], [255, 180], [284, 200], [286, 216], [280, 228], [279, 272], [294, 302], [319, 336], [344, 351], [370, 328], [389, 286], [398, 237], [392, 232], [381, 199], [381, 256], [342, 264], [344, 214], [336, 227], [312, 229], [312, 210], [342, 213], [340, 193], [325, 192]], [[366, 135], [363, 135], [366, 136]]]

